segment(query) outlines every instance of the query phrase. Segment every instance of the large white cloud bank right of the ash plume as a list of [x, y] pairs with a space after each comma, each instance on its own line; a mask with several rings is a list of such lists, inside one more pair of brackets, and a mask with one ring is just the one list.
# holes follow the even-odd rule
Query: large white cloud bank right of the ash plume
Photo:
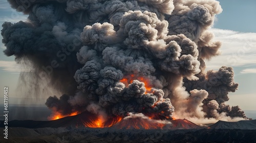
[[256, 63], [256, 33], [241, 33], [211, 28], [215, 40], [221, 41], [221, 55], [205, 61], [207, 69], [219, 69], [221, 66], [251, 66]]

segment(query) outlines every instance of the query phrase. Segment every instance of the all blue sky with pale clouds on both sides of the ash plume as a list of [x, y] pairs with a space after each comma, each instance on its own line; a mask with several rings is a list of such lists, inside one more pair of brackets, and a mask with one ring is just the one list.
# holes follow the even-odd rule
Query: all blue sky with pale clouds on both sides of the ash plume
[[[222, 42], [222, 54], [211, 61], [206, 61], [207, 69], [218, 70], [221, 66], [232, 66], [235, 81], [239, 90], [230, 93], [230, 105], [239, 105], [244, 110], [256, 110], [256, 1], [255, 0], [220, 0], [223, 12], [217, 15], [214, 27], [215, 39]], [[0, 1], [0, 24], [4, 21], [17, 22], [26, 19], [26, 15], [12, 10], [6, 1]], [[0, 36], [2, 39], [2, 36]], [[15, 92], [20, 67], [15, 64], [14, 57], [3, 54], [5, 46], [0, 43], [0, 92], [3, 87], [9, 87], [9, 101], [20, 103], [20, 97]], [[3, 99], [3, 97], [0, 97]], [[3, 100], [1, 100], [3, 101]], [[39, 100], [44, 104], [46, 99]], [[36, 104], [36, 103], [34, 103]]]

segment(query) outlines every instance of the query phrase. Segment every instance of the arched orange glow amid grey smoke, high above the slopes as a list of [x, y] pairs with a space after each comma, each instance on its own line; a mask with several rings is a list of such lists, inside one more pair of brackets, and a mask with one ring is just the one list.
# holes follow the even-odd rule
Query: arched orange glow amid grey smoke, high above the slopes
[[133, 82], [133, 80], [139, 80], [140, 82], [143, 82], [145, 84], [145, 88], [146, 88], [146, 93], [147, 91], [151, 91], [152, 89], [152, 84], [151, 81], [145, 77], [141, 77], [141, 76], [135, 76], [134, 74], [130, 75], [130, 76], [125, 76], [123, 77], [120, 82], [122, 82], [125, 87], [128, 87], [128, 85], [130, 83]]

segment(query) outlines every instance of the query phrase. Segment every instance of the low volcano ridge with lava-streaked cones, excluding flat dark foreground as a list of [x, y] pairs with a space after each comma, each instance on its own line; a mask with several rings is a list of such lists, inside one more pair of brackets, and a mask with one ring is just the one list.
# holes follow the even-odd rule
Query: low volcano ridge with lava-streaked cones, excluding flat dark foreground
[[[1, 126], [2, 127], [2, 126]], [[113, 129], [200, 129], [201, 127], [186, 120], [152, 120], [148, 117], [128, 116], [125, 118], [114, 117], [105, 122], [100, 122], [97, 115], [82, 112], [76, 116], [69, 116], [52, 121], [13, 120], [9, 127], [23, 128], [59, 128], [59, 127], [89, 127]]]

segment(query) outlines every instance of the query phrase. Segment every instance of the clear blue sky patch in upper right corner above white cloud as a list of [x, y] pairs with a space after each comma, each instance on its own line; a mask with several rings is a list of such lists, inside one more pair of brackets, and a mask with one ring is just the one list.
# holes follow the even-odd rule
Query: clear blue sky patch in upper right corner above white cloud
[[217, 15], [215, 28], [256, 33], [255, 0], [220, 0], [222, 13]]

